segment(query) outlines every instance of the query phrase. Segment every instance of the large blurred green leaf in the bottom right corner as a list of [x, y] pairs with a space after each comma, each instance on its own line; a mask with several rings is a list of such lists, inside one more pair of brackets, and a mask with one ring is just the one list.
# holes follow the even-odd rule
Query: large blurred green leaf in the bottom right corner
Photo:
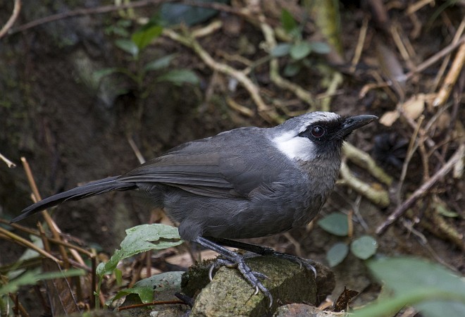
[[393, 295], [355, 311], [354, 316], [386, 316], [409, 305], [426, 317], [465, 316], [465, 280], [456, 273], [421, 259], [388, 258], [368, 261], [373, 275]]

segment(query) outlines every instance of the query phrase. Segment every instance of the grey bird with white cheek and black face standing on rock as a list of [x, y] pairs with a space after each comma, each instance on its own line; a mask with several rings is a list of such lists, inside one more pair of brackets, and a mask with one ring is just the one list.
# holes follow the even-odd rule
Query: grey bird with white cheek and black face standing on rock
[[138, 190], [164, 209], [182, 240], [221, 254], [211, 267], [235, 266], [273, 303], [244, 256], [224, 246], [309, 262], [235, 239], [266, 237], [308, 224], [333, 191], [342, 144], [354, 130], [377, 120], [372, 115], [309, 112], [272, 128], [246, 127], [181, 144], [123, 175], [89, 182], [23, 209], [11, 222], [64, 201], [112, 191]]

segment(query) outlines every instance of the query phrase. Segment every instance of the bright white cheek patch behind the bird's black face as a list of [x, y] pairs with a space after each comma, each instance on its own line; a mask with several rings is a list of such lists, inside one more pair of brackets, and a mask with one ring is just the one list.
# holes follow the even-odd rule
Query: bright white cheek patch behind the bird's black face
[[311, 161], [315, 159], [315, 144], [306, 137], [299, 137], [295, 132], [285, 132], [271, 141], [289, 159]]

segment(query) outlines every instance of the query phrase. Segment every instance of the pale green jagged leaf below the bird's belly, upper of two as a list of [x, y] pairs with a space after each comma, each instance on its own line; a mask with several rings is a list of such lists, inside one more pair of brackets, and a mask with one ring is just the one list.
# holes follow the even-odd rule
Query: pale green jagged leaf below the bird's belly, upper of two
[[168, 249], [182, 243], [178, 228], [171, 225], [152, 223], [151, 225], [137, 225], [126, 230], [126, 237], [121, 242], [121, 249], [115, 250], [113, 256], [106, 263], [97, 266], [97, 275], [102, 277], [111, 274], [118, 262], [145, 251]]

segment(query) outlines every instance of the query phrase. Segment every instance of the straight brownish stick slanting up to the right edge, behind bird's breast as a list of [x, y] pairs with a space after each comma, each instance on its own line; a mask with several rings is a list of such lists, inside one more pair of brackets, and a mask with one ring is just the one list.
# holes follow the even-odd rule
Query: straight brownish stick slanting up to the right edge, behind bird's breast
[[394, 223], [395, 220], [397, 220], [397, 218], [402, 216], [402, 214], [405, 211], [407, 211], [407, 209], [409, 209], [412, 204], [414, 204], [416, 199], [419, 199], [421, 196], [423, 196], [423, 194], [426, 194], [426, 192], [431, 187], [433, 187], [433, 185], [435, 185], [435, 183], [438, 182], [440, 178], [447, 175], [447, 173], [450, 172], [454, 165], [464, 158], [464, 155], [465, 144], [460, 144], [459, 149], [457, 149], [457, 151], [455, 151], [454, 155], [452, 155], [449, 161], [445, 163], [445, 166], [442, 166], [442, 168], [438, 170], [438, 172], [436, 172], [432, 178], [430, 178], [427, 182], [424, 182], [419, 189], [416, 189], [416, 191], [413, 194], [411, 194], [411, 196], [406, 201], [404, 201], [404, 203], [401, 206], [397, 207], [397, 209], [395, 209], [395, 211], [391, 213], [389, 217], [387, 217], [387, 220], [385, 220], [384, 223], [382, 223], [380, 226], [378, 226], [378, 228], [376, 228], [376, 234], [380, 235], [381, 233], [383, 233], [389, 225]]

